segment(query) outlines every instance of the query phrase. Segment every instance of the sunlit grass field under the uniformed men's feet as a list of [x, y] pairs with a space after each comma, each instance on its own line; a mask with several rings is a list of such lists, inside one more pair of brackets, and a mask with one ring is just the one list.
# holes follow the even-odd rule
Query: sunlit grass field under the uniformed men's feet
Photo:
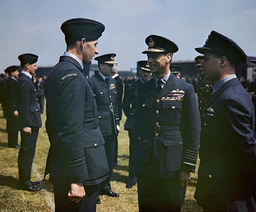
[[[49, 141], [45, 132], [45, 113], [42, 115], [43, 127], [39, 131], [39, 137], [34, 158], [32, 181], [43, 179], [45, 162], [49, 149]], [[131, 189], [125, 187], [128, 177], [128, 150], [129, 139], [127, 131], [123, 130], [125, 116], [121, 121], [119, 134], [118, 165], [115, 167], [111, 181], [114, 192], [120, 194], [119, 198], [100, 196], [101, 204], [97, 205], [97, 212], [136, 212], [137, 211], [137, 187]], [[43, 181], [43, 189], [38, 192], [19, 190], [17, 157], [19, 150], [7, 148], [6, 120], [2, 118], [0, 108], [0, 212], [52, 212], [54, 210], [53, 188], [48, 180]], [[194, 190], [197, 175], [192, 174], [187, 188], [184, 212], [201, 212], [194, 200]]]

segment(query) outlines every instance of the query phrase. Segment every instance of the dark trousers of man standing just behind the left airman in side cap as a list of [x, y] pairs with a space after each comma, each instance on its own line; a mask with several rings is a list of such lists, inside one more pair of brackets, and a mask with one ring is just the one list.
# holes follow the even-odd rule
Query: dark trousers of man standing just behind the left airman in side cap
[[18, 144], [18, 117], [8, 115], [7, 117], [8, 147], [14, 148]]

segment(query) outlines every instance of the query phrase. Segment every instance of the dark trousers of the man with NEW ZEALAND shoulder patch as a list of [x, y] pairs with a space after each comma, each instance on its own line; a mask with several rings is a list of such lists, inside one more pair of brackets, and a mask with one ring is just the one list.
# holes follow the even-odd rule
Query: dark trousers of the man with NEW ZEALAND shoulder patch
[[85, 196], [79, 203], [69, 200], [70, 185], [65, 180], [54, 184], [55, 212], [95, 212], [99, 185], [84, 186]]

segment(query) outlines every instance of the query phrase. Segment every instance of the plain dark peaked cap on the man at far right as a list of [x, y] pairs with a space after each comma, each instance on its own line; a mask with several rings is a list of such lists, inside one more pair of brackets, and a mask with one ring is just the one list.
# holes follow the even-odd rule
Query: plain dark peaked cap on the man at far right
[[222, 56], [225, 56], [236, 63], [246, 61], [246, 54], [235, 41], [216, 31], [211, 31], [204, 46], [195, 48], [195, 50], [201, 54], [204, 54], [206, 50], [211, 50], [222, 54]]

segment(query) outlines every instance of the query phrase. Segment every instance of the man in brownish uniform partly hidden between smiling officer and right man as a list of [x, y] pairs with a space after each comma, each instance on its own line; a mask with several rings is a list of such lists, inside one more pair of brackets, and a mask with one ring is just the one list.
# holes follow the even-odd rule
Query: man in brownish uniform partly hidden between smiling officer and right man
[[197, 98], [198, 98], [200, 117], [203, 118], [204, 109], [207, 104], [207, 101], [211, 99], [213, 85], [209, 80], [207, 80], [204, 77], [204, 70], [201, 67], [202, 62], [204, 61], [204, 56], [199, 55], [195, 57], [194, 60], [197, 62], [196, 66], [198, 68], [199, 73], [201, 74], [201, 77], [198, 82]]

